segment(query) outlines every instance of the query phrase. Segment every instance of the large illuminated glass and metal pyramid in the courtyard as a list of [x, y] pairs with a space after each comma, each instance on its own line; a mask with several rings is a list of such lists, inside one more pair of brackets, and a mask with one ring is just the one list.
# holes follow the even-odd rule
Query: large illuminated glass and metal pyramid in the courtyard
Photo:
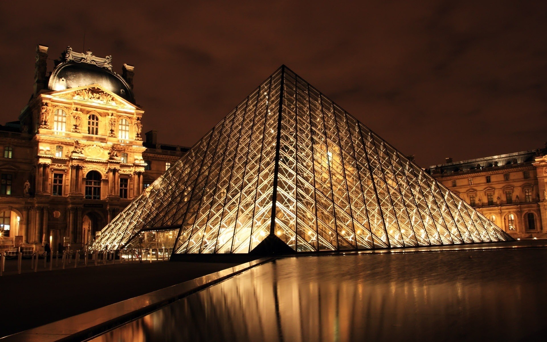
[[511, 240], [284, 66], [107, 225], [93, 247], [117, 248], [143, 229], [177, 229], [174, 253]]

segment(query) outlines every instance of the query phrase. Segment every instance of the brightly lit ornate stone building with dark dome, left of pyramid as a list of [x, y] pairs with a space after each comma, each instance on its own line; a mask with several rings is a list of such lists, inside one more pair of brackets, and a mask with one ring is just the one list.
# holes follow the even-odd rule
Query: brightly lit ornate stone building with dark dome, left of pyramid
[[47, 74], [47, 58], [38, 45], [31, 99], [0, 126], [4, 249], [86, 244], [187, 150], [159, 144], [155, 131], [143, 143], [133, 66], [118, 74], [111, 56], [68, 47]]

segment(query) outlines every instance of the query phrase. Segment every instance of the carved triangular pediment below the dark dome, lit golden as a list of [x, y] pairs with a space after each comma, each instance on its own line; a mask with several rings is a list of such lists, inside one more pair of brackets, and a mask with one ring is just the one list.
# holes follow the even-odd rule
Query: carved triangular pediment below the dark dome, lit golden
[[79, 86], [77, 88], [69, 88], [66, 90], [57, 90], [46, 93], [51, 96], [67, 98], [69, 100], [80, 100], [96, 103], [98, 105], [117, 106], [126, 109], [139, 109], [131, 102], [114, 94], [112, 91], [104, 88], [100, 84], [90, 84]]

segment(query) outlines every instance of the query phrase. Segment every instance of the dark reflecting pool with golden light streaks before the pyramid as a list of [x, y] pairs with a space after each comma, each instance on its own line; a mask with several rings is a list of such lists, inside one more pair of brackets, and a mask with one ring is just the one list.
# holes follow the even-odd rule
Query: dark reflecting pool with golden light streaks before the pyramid
[[546, 249], [294, 257], [93, 341], [527, 340], [545, 332]]

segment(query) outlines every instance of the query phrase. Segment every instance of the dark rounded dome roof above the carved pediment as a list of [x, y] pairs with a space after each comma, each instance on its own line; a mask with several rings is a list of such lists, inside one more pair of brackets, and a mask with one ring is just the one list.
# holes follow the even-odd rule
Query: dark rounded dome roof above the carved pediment
[[50, 90], [65, 90], [79, 86], [99, 84], [103, 88], [135, 103], [133, 91], [117, 73], [88, 63], [64, 62], [59, 64], [49, 77]]

